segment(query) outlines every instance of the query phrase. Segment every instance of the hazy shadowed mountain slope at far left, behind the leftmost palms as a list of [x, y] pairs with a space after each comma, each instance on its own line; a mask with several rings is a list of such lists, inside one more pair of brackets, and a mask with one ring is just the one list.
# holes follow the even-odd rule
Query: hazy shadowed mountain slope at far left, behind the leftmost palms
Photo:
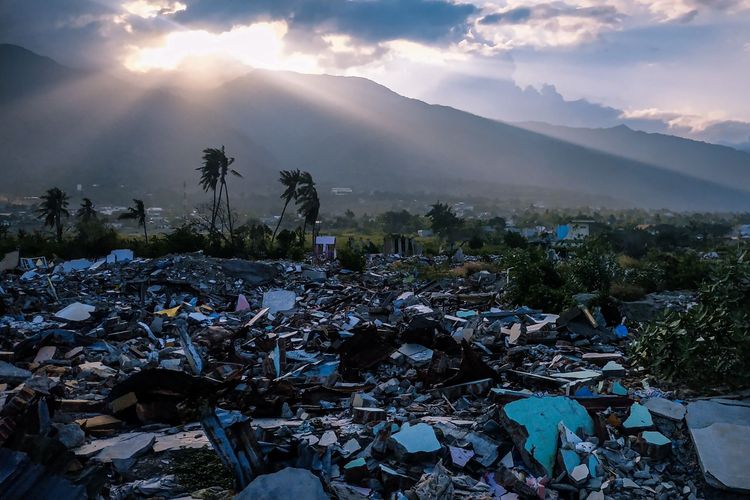
[[71, 191], [81, 183], [97, 184], [108, 197], [122, 193], [116, 198], [125, 201], [147, 192], [177, 195], [183, 182], [196, 185], [201, 150], [221, 144], [256, 159], [266, 175], [277, 169], [221, 116], [169, 92], [63, 68], [30, 52], [19, 57], [3, 46], [0, 68], [8, 67], [13, 83], [0, 87], [0, 174], [13, 194], [52, 185]]

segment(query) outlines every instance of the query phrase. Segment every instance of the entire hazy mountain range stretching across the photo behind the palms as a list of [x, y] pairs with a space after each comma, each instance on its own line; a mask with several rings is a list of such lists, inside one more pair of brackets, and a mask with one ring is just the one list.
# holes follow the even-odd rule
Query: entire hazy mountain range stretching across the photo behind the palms
[[[592, 144], [429, 105], [361, 78], [252, 71], [179, 95], [18, 51], [0, 47], [0, 68], [14, 79], [0, 87], [10, 103], [0, 111], [0, 174], [18, 182], [5, 189], [39, 191], [54, 181], [180, 192], [182, 182], [195, 183], [200, 150], [226, 144], [248, 192], [275, 183], [280, 168], [302, 168], [357, 191], [750, 208], [750, 154], [731, 148], [630, 130]], [[32, 95], [23, 92], [31, 80], [43, 82]]]

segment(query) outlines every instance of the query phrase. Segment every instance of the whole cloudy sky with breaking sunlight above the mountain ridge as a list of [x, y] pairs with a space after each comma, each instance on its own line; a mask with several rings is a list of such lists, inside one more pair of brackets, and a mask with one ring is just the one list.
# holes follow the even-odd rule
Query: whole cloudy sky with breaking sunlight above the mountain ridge
[[363, 76], [509, 121], [750, 144], [750, 0], [0, 0], [0, 43], [144, 81]]

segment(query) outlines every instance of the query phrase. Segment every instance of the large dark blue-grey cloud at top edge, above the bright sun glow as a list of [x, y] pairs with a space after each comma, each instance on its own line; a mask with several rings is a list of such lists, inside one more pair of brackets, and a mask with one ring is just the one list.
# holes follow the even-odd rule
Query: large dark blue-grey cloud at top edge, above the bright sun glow
[[460, 39], [471, 4], [443, 0], [193, 0], [176, 21], [194, 27], [229, 29], [235, 24], [285, 20], [291, 30], [350, 35], [367, 43], [399, 38], [419, 42]]

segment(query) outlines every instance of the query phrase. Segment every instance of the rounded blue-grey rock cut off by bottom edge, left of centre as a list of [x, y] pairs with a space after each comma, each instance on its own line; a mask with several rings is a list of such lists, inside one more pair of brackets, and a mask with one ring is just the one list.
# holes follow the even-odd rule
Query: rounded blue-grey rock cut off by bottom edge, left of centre
[[236, 500], [328, 500], [323, 486], [312, 472], [287, 467], [255, 478]]

